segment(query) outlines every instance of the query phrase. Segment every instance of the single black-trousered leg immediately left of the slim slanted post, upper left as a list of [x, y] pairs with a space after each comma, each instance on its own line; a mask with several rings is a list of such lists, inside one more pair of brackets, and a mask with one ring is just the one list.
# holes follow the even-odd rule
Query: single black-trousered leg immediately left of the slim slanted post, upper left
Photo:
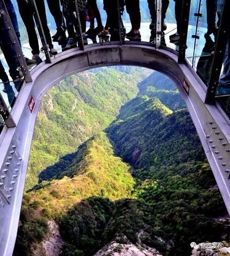
[[26, 31], [28, 33], [30, 47], [32, 49], [32, 54], [39, 54], [39, 43], [38, 35], [35, 30], [35, 24], [33, 19], [33, 13], [31, 11], [31, 5], [29, 2], [24, 0], [17, 0], [18, 10], [22, 17], [23, 23], [25, 24]]

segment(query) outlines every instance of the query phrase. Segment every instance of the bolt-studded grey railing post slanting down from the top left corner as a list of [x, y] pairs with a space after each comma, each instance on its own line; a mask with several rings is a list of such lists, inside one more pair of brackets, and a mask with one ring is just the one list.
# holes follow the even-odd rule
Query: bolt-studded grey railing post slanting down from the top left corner
[[19, 68], [24, 75], [25, 81], [31, 82], [32, 78], [30, 75], [30, 71], [28, 70], [28, 67], [26, 65], [26, 61], [24, 59], [23, 52], [22, 52], [22, 47], [18, 42], [18, 38], [17, 38], [17, 35], [15, 34], [14, 27], [10, 20], [4, 0], [0, 0], [0, 19], [2, 20], [2, 23], [4, 24], [4, 26], [6, 27], [7, 34], [10, 40], [10, 45], [12, 46], [12, 50], [15, 52], [15, 56], [17, 57], [18, 64], [20, 65]]

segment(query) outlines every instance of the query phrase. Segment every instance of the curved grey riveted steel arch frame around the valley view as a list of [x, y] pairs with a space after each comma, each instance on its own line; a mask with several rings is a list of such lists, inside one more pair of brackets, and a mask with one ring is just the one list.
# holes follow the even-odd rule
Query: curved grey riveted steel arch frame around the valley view
[[[32, 70], [33, 82], [24, 83], [12, 109], [12, 117], [17, 126], [10, 129], [5, 127], [0, 135], [0, 168], [2, 167], [0, 171], [6, 170], [6, 165], [9, 165], [7, 167], [9, 170], [12, 168], [12, 172], [17, 171], [14, 185], [12, 185], [14, 189], [11, 192], [7, 191], [8, 194], [11, 193], [11, 201], [6, 201], [6, 198], [2, 196], [4, 190], [0, 189], [0, 255], [12, 255], [14, 250], [34, 125], [42, 98], [58, 81], [89, 68], [137, 65], [165, 73], [175, 81], [189, 109], [230, 213], [229, 124], [215, 105], [204, 104], [205, 88], [202, 81], [188, 64], [178, 64], [177, 57], [176, 52], [167, 47], [155, 49], [148, 43], [130, 42], [121, 46], [119, 42], [114, 42], [85, 46], [84, 51], [71, 49], [62, 52], [51, 64], [43, 62]], [[32, 107], [29, 107], [28, 105], [33, 102], [31, 99], [35, 105], [32, 104]], [[6, 151], [6, 149], [9, 150]], [[15, 162], [9, 161], [10, 154], [17, 155]]]

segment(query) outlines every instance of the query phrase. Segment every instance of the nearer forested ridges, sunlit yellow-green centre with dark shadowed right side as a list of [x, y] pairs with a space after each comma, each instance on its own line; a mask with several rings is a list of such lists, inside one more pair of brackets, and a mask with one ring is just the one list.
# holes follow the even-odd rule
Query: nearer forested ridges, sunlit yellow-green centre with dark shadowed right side
[[[15, 256], [90, 256], [103, 248], [100, 256], [111, 244], [113, 253], [126, 244], [146, 255], [184, 256], [192, 241], [228, 244], [226, 207], [182, 99], [169, 97], [175, 86], [154, 72], [138, 88], [104, 131], [50, 171], [53, 180], [25, 193]], [[60, 119], [57, 126], [64, 129]]]

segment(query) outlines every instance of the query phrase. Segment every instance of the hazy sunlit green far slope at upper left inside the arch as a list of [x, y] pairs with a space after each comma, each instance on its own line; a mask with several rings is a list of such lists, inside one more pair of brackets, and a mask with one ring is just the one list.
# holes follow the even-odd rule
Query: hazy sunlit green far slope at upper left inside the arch
[[137, 95], [138, 81], [150, 70], [130, 70], [132, 74], [114, 68], [82, 72], [69, 76], [47, 93], [34, 131], [26, 189], [63, 171], [77, 147], [106, 128], [120, 107]]

